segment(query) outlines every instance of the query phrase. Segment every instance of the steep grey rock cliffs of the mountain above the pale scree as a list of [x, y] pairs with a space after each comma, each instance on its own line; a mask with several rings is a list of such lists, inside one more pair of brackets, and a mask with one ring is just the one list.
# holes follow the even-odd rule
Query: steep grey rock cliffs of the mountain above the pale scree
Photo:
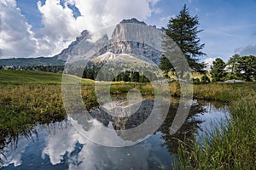
[[[136, 19], [122, 20], [117, 25], [109, 39], [107, 35], [96, 42], [91, 41], [88, 31], [83, 31], [81, 37], [77, 37], [68, 48], [62, 50], [61, 54], [55, 55], [57, 59], [67, 60], [73, 56], [80, 56], [81, 59], [90, 50], [99, 46], [94, 54], [94, 58], [102, 54], [131, 54], [137, 58], [147, 58], [154, 63], [160, 61], [160, 46], [162, 41], [162, 31], [154, 26], [147, 26], [144, 22]], [[104, 45], [102, 45], [102, 42]], [[109, 53], [108, 53], [109, 52]]]

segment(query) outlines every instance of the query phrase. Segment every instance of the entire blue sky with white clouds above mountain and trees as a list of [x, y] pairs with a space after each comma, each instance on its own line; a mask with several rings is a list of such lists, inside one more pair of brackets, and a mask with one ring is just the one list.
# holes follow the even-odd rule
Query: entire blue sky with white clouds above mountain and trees
[[256, 55], [256, 0], [0, 0], [0, 59], [50, 57], [123, 19], [166, 27], [185, 3], [203, 30], [203, 60]]

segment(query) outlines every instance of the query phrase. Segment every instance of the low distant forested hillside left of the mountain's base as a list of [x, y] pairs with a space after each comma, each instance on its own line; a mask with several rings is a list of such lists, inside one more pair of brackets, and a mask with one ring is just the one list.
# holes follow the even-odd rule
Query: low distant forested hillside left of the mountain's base
[[3, 66], [35, 66], [35, 65], [64, 65], [65, 61], [56, 57], [38, 57], [38, 58], [17, 58], [0, 59], [0, 65]]

